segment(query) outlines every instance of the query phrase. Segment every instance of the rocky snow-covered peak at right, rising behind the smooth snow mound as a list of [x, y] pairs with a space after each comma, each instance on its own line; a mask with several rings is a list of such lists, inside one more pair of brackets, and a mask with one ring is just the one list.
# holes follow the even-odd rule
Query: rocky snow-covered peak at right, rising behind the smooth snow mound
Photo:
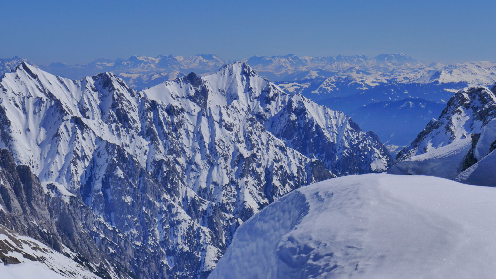
[[[460, 90], [417, 138], [398, 153], [393, 174], [435, 175], [496, 186], [496, 86]], [[488, 158], [486, 158], [488, 157]]]

